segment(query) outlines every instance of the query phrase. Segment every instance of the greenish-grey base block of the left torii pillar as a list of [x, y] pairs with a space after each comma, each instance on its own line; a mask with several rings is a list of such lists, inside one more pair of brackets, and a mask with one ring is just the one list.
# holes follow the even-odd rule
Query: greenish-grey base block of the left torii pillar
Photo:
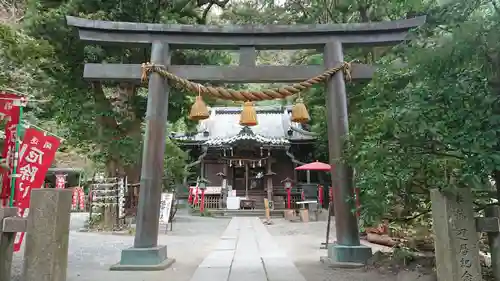
[[128, 248], [122, 250], [120, 262], [111, 266], [112, 271], [160, 271], [168, 268], [175, 259], [167, 257], [167, 246], [153, 248]]

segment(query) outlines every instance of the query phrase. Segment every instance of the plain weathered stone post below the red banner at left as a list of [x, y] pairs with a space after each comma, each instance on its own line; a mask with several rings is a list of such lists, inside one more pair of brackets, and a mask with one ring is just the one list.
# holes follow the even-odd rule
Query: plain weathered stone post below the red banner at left
[[66, 280], [71, 201], [71, 190], [31, 191], [23, 280]]

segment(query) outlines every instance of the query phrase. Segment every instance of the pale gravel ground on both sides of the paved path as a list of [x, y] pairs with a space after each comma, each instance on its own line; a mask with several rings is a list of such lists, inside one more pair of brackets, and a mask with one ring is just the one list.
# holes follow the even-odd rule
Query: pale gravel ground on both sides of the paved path
[[[68, 278], [66, 281], [189, 281], [203, 259], [216, 246], [230, 220], [191, 217], [187, 212], [177, 214], [174, 229], [167, 235], [161, 233], [160, 244], [168, 246], [168, 255], [176, 263], [160, 272], [116, 272], [109, 267], [120, 259], [121, 249], [133, 244], [133, 236], [77, 232], [83, 226], [87, 214], [72, 215]], [[266, 226], [269, 233], [290, 258], [307, 281], [420, 281], [411, 272], [408, 274], [382, 275], [365, 269], [332, 269], [319, 261], [326, 256], [320, 244], [325, 241], [326, 222], [290, 223], [284, 219], [273, 219], [273, 225]], [[162, 229], [162, 232], [164, 228]], [[332, 226], [331, 241], [335, 237]], [[388, 251], [389, 248], [365, 243], [373, 251]], [[14, 278], [21, 281], [22, 253], [14, 256]], [[221, 280], [223, 281], [223, 280]]]

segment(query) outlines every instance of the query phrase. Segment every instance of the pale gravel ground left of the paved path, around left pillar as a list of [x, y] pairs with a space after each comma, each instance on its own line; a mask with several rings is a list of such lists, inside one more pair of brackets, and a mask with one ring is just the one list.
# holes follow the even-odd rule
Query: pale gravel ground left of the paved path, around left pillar
[[[189, 281], [203, 258], [215, 247], [229, 220], [191, 217], [179, 211], [173, 231], [162, 233], [159, 243], [167, 245], [171, 268], [160, 272], [117, 272], [109, 267], [120, 259], [121, 249], [133, 244], [133, 236], [77, 232], [86, 214], [72, 215], [69, 237], [67, 281]], [[23, 249], [14, 256], [13, 281], [20, 281]]]

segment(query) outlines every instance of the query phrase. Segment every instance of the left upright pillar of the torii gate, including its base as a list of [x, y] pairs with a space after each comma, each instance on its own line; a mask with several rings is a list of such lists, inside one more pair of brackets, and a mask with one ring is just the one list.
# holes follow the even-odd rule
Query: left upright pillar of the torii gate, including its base
[[[170, 64], [168, 44], [153, 43], [151, 62]], [[174, 261], [167, 259], [167, 247], [158, 245], [169, 87], [165, 78], [153, 72], [148, 89], [134, 247], [122, 250], [120, 262], [111, 270], [163, 270]]]

